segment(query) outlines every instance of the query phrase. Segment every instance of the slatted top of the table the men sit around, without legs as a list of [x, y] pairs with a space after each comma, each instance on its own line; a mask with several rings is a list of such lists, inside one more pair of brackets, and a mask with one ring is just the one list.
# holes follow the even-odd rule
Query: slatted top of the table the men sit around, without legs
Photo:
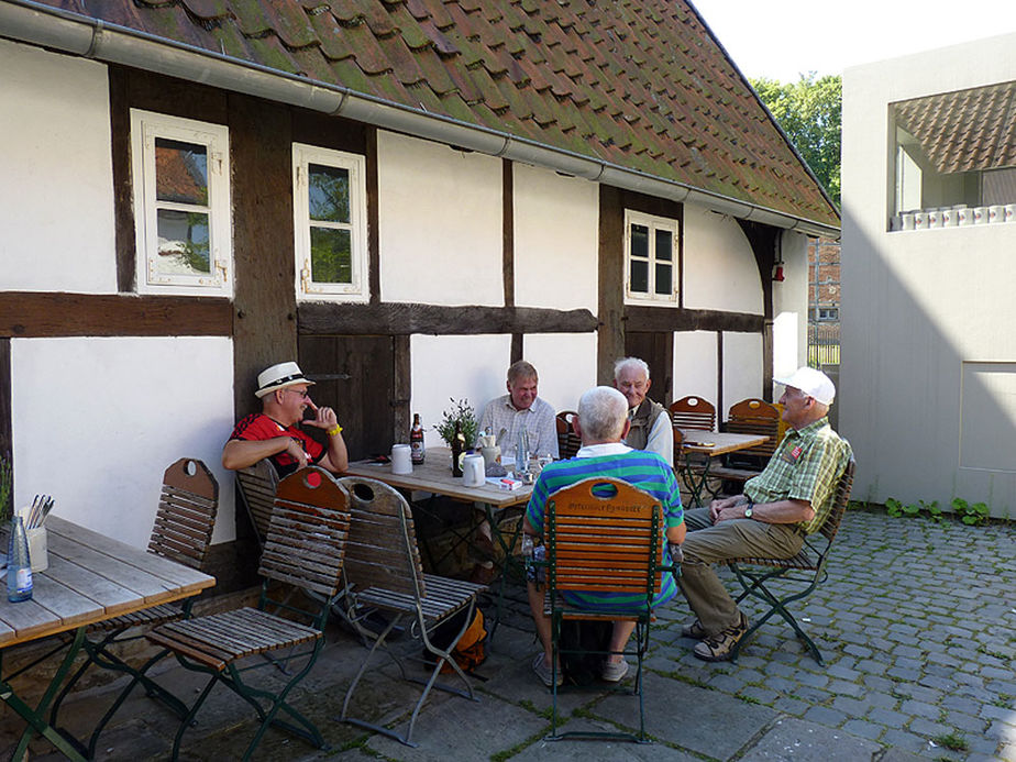
[[366, 476], [400, 489], [416, 489], [434, 495], [446, 495], [460, 500], [483, 503], [494, 508], [507, 508], [527, 503], [532, 485], [518, 489], [501, 489], [490, 483], [482, 487], [466, 487], [461, 476], [452, 476], [452, 456], [448, 448], [430, 448], [422, 465], [415, 465], [411, 474], [393, 474], [389, 464], [378, 465], [371, 461], [350, 463], [350, 476]]

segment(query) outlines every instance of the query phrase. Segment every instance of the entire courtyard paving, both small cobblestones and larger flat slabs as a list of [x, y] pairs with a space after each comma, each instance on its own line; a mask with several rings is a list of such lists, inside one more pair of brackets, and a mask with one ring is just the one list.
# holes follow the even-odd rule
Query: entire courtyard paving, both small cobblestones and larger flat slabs
[[[1013, 524], [968, 528], [849, 512], [829, 579], [795, 609], [825, 667], [778, 618], [746, 644], [738, 664], [700, 662], [680, 636], [689, 616], [683, 600], [659, 611], [647, 662], [650, 746], [544, 740], [551, 697], [529, 667], [537, 647], [524, 590], [513, 586], [510, 594], [478, 671], [481, 702], [433, 696], [417, 724], [419, 748], [335, 721], [362, 656], [335, 630], [294, 693], [331, 749], [313, 751], [273, 731], [256, 759], [1016, 762]], [[492, 605], [486, 609], [493, 614]], [[759, 614], [751, 603], [744, 609]], [[418, 650], [410, 641], [401, 648]], [[194, 676], [166, 666], [164, 684], [177, 695], [195, 693]], [[368, 673], [357, 702], [375, 721], [404, 729], [415, 698], [396, 675], [390, 664]], [[64, 713], [70, 730], [87, 735], [110, 700], [103, 686], [71, 697]], [[638, 702], [627, 696], [566, 694], [561, 709], [565, 729], [638, 727]], [[22, 729], [9, 711], [0, 717], [0, 750]], [[99, 759], [165, 759], [173, 730], [172, 718], [135, 692], [103, 735]], [[249, 708], [220, 689], [188, 730], [185, 759], [235, 759], [252, 733]], [[35, 759], [57, 759], [45, 742], [32, 750]]]

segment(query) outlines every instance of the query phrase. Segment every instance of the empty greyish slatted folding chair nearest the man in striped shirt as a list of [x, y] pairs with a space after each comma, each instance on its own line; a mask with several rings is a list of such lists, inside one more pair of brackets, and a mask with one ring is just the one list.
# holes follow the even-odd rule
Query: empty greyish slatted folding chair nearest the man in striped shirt
[[[412, 513], [405, 498], [388, 485], [375, 479], [346, 476], [340, 482], [349, 489], [352, 506], [352, 524], [345, 559], [350, 601], [354, 606], [376, 607], [393, 615], [388, 629], [380, 634], [364, 633], [374, 642], [345, 693], [340, 719], [383, 733], [406, 746], [416, 747], [412, 731], [431, 688], [437, 687], [476, 700], [468, 678], [451, 652], [473, 621], [476, 595], [486, 589], [486, 586], [423, 574]], [[438, 647], [431, 640], [434, 628], [455, 615], [464, 615], [462, 628], [444, 648]], [[411, 619], [411, 627], [407, 629], [420, 639], [426, 652], [437, 660], [430, 677], [426, 681], [409, 676], [402, 658], [385, 643], [389, 630], [405, 618]], [[350, 703], [360, 678], [378, 649], [383, 649], [396, 663], [404, 680], [424, 686], [412, 709], [409, 728], [405, 735], [350, 715]], [[445, 664], [462, 681], [464, 691], [437, 682], [438, 674]]]

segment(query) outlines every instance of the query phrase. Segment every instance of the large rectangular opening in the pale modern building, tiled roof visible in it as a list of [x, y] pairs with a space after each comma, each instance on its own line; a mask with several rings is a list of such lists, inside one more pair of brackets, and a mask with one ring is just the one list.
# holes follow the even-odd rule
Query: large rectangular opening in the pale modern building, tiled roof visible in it
[[891, 229], [1016, 222], [1016, 82], [899, 101], [890, 112]]

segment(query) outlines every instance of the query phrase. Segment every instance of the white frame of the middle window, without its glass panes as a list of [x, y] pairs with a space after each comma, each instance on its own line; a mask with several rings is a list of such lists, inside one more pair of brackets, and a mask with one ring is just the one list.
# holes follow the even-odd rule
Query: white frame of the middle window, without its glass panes
[[[345, 169], [350, 173], [349, 223], [310, 219], [308, 181], [310, 165]], [[367, 301], [367, 181], [366, 158], [344, 151], [292, 144], [292, 228], [296, 253], [296, 295], [298, 300]], [[334, 228], [350, 231], [351, 283], [316, 283], [311, 279], [310, 229]]]

